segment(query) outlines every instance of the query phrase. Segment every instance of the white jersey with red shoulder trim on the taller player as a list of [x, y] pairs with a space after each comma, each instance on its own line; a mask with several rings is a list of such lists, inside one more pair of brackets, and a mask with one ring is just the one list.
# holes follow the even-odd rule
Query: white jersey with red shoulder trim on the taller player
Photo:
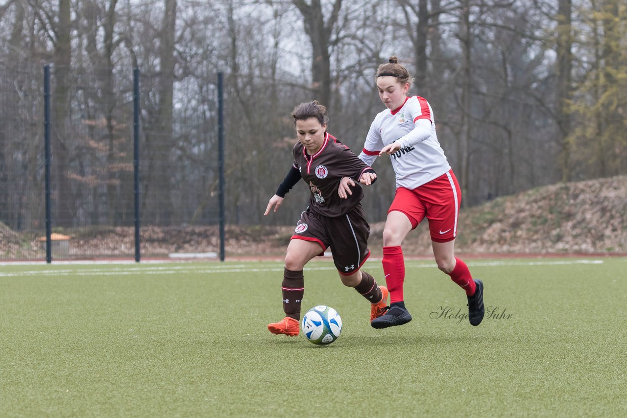
[[431, 105], [422, 97], [408, 97], [400, 108], [377, 114], [359, 158], [372, 165], [379, 151], [394, 141], [402, 145], [390, 155], [396, 187], [416, 189], [451, 169], [435, 133]]

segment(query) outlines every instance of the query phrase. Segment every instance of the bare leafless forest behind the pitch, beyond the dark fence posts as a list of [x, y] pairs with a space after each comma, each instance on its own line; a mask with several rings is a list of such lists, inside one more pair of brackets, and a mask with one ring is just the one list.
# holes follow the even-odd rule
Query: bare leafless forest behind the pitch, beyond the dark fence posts
[[[627, 174], [627, 0], [4, 0], [0, 221], [43, 228], [43, 66], [52, 68], [53, 226], [132, 226], [133, 68], [142, 226], [218, 223], [224, 73], [229, 225], [291, 225], [307, 189], [263, 217], [319, 100], [357, 154], [391, 55], [433, 107], [463, 206]], [[367, 191], [386, 216], [391, 164]]]

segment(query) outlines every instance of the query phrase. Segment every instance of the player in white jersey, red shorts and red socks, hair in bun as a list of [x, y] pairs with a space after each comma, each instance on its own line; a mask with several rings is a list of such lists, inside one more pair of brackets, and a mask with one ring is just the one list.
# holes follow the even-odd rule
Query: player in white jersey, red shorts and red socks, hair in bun
[[[466, 263], [453, 253], [460, 186], [438, 142], [431, 106], [422, 97], [407, 96], [411, 81], [396, 56], [379, 66], [376, 85], [386, 110], [374, 118], [359, 154], [367, 165], [379, 155], [389, 155], [396, 173], [396, 195], [383, 229], [382, 264], [390, 306], [371, 325], [387, 328], [411, 321], [403, 298], [405, 264], [401, 245], [409, 231], [426, 217], [438, 268], [465, 290], [468, 320], [476, 326], [483, 320], [483, 283], [473, 279]], [[340, 196], [349, 193], [348, 182], [340, 184]]]

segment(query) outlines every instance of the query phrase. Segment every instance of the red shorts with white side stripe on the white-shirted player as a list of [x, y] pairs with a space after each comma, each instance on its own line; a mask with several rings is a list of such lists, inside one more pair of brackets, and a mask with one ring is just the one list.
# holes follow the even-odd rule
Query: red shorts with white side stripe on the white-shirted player
[[453, 241], [457, 235], [457, 216], [460, 211], [460, 185], [453, 170], [416, 189], [396, 189], [396, 195], [387, 213], [404, 213], [414, 229], [426, 216], [431, 240], [436, 243]]

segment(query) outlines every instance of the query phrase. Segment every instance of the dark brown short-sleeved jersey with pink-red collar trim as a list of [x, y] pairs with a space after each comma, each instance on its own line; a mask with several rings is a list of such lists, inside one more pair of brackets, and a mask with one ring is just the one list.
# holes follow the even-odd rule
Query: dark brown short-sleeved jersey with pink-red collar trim
[[[309, 186], [309, 208], [323, 216], [342, 216], [354, 209], [364, 197], [359, 178], [366, 170], [372, 170], [364, 164], [346, 145], [333, 135], [325, 133], [322, 148], [314, 155], [307, 155], [300, 142], [294, 145], [294, 167], [300, 170], [300, 176]], [[347, 199], [339, 197], [337, 190], [342, 177], [355, 180], [352, 195]]]

